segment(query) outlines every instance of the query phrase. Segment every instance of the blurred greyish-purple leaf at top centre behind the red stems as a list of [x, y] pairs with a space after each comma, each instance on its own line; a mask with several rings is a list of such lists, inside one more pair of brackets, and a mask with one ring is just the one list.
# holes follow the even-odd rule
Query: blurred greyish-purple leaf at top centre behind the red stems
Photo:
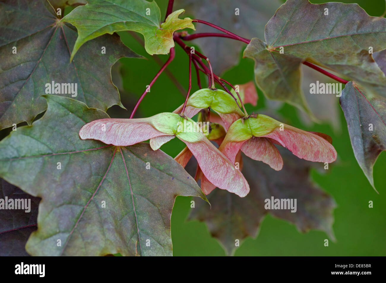
[[[184, 8], [188, 15], [192, 14], [245, 38], [262, 38], [264, 26], [280, 4], [279, 0], [178, 0], [175, 3], [177, 8]], [[196, 24], [196, 31], [219, 32], [200, 23]], [[245, 46], [242, 42], [221, 37], [204, 37], [196, 39], [196, 42], [218, 75], [237, 64], [242, 46]]]

